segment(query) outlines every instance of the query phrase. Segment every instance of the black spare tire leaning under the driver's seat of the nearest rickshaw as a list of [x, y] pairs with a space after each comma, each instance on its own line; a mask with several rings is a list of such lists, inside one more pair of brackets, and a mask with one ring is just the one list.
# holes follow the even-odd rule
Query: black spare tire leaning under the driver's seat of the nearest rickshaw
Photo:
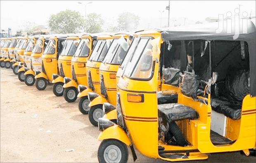
[[187, 141], [183, 137], [183, 134], [179, 128], [179, 126], [173, 121], [169, 123], [170, 132], [173, 134], [177, 145], [185, 147], [187, 145]]

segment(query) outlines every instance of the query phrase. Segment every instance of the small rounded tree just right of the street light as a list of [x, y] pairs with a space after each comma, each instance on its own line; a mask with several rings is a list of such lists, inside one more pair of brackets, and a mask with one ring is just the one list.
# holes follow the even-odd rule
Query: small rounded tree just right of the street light
[[99, 33], [102, 32], [102, 25], [104, 20], [100, 14], [91, 13], [86, 16], [85, 20], [85, 31], [88, 33]]

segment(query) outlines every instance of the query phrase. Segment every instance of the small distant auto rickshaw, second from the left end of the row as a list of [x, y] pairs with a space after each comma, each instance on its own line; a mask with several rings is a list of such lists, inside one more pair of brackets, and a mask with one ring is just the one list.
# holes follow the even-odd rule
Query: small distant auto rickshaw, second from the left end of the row
[[10, 46], [8, 47], [8, 54], [5, 54], [5, 68], [11, 68], [12, 67], [12, 63], [10, 62], [14, 57], [14, 48], [16, 47], [18, 42], [18, 38], [17, 37], [12, 37], [12, 42], [10, 44]]

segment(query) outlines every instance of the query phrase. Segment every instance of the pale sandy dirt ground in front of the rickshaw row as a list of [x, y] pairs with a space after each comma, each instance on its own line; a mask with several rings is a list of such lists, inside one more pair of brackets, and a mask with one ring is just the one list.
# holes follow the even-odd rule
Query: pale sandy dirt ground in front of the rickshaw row
[[[88, 115], [79, 112], [77, 101], [56, 97], [52, 86], [38, 91], [19, 81], [11, 69], [0, 69], [0, 162], [98, 162], [99, 133]], [[128, 150], [128, 161], [133, 162]], [[156, 161], [136, 154], [137, 163]], [[208, 160], [192, 162], [254, 161], [256, 157], [238, 151], [209, 154]]]

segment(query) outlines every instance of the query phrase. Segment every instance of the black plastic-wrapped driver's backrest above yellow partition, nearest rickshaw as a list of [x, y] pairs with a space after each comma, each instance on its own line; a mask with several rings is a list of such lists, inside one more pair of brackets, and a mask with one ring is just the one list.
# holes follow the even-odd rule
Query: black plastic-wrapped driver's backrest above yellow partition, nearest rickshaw
[[198, 75], [192, 75], [185, 73], [183, 78], [183, 84], [181, 86], [181, 92], [189, 97], [197, 98], [197, 90], [200, 83]]

